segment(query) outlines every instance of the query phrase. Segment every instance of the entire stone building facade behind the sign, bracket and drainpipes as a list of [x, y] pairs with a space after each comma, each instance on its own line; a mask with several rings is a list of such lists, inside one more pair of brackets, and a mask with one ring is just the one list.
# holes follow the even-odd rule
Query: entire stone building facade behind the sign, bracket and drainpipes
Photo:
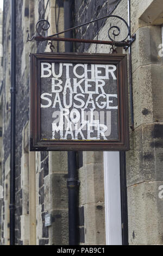
[[[66, 1], [66, 0], [65, 0]], [[29, 151], [30, 65], [29, 53], [49, 52], [47, 42], [28, 41], [35, 33], [36, 22], [51, 23], [48, 34], [64, 31], [64, 1], [16, 0], [16, 245], [68, 245], [67, 153]], [[136, 33], [132, 48], [134, 131], [130, 130], [130, 150], [121, 172], [126, 173], [128, 206], [122, 216], [129, 245], [163, 244], [163, 89], [162, 89], [162, 0], [130, 0], [131, 34]], [[10, 1], [3, 9], [3, 86], [1, 90], [2, 171], [1, 244], [9, 245], [10, 204]], [[73, 25], [102, 17], [118, 15], [127, 20], [128, 0], [74, 0]], [[56, 23], [57, 22], [57, 23]], [[104, 19], [74, 31], [74, 37], [108, 40], [114, 20]], [[57, 26], [56, 26], [57, 25]], [[122, 26], [116, 21], [116, 25]], [[126, 30], [122, 27], [122, 37]], [[119, 38], [119, 37], [118, 37]], [[64, 52], [64, 43], [53, 42], [54, 52]], [[123, 48], [119, 53], [127, 53]], [[109, 53], [110, 46], [76, 44], [74, 52]], [[128, 63], [129, 66], [129, 63]], [[129, 95], [130, 100], [130, 95]], [[123, 153], [124, 154], [124, 153]], [[125, 155], [125, 154], [124, 154]], [[116, 162], [120, 161], [118, 154]], [[105, 245], [106, 190], [103, 152], [78, 153], [79, 243]], [[112, 160], [114, 161], [114, 160]], [[120, 161], [121, 163], [121, 161]], [[123, 166], [122, 166], [123, 165]], [[122, 173], [121, 173], [122, 175]], [[121, 197], [121, 196], [120, 196]], [[121, 198], [120, 198], [121, 199]], [[121, 212], [120, 209], [120, 212]], [[45, 227], [45, 215], [52, 224]], [[125, 226], [125, 227], [124, 227]], [[120, 242], [121, 243], [121, 242]]]

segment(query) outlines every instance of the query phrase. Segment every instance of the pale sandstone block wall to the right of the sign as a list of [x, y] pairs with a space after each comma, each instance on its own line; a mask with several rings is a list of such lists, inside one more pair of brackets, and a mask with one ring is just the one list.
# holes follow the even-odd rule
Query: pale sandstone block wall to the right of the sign
[[[131, 0], [131, 33], [136, 33], [136, 41], [132, 45], [135, 130], [130, 130], [130, 150], [126, 153], [130, 245], [163, 243], [163, 205], [159, 196], [163, 179], [163, 62], [159, 56], [162, 10], [162, 1]], [[122, 0], [113, 14], [126, 19], [127, 1]], [[109, 23], [108, 19], [98, 34], [99, 40], [107, 39]], [[122, 38], [124, 35], [122, 31]], [[108, 48], [91, 45], [88, 51], [108, 53]]]

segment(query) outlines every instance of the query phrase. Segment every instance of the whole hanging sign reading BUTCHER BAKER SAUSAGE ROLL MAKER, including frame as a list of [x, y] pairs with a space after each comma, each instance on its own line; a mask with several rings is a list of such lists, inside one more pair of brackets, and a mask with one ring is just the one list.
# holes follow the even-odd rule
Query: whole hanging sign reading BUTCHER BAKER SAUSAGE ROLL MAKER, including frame
[[31, 54], [30, 150], [128, 150], [126, 54]]

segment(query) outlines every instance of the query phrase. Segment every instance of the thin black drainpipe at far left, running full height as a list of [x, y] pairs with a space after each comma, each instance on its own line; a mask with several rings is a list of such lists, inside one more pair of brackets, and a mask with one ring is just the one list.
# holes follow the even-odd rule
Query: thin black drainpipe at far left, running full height
[[11, 0], [10, 245], [15, 245], [16, 1]]

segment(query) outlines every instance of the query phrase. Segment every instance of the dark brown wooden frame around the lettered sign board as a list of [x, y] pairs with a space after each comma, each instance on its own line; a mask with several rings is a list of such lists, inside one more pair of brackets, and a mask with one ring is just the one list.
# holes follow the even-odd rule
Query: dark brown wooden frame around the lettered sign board
[[[118, 140], [74, 141], [41, 139], [41, 62], [112, 64], [117, 66]], [[129, 150], [128, 80], [126, 54], [39, 53], [30, 54], [30, 151]]]

